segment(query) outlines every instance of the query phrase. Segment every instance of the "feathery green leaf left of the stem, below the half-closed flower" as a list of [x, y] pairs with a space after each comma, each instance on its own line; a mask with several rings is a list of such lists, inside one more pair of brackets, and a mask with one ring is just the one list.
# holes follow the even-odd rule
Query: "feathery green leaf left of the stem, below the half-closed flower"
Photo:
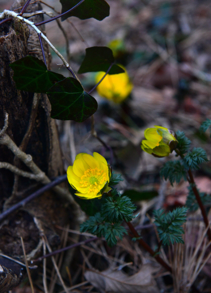
[[182, 178], [186, 180], [186, 170], [181, 160], [166, 162], [161, 168], [160, 175], [165, 180], [169, 179], [172, 185], [174, 182], [179, 183]]

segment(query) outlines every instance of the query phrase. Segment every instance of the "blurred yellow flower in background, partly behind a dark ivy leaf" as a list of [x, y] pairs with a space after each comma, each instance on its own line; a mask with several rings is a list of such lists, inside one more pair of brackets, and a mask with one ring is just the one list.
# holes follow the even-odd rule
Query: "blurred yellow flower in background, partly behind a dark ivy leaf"
[[[125, 70], [124, 73], [107, 74], [96, 88], [99, 95], [117, 104], [125, 100], [133, 88], [126, 69], [122, 65], [119, 66]], [[96, 83], [100, 81], [104, 74], [101, 71], [96, 74]]]

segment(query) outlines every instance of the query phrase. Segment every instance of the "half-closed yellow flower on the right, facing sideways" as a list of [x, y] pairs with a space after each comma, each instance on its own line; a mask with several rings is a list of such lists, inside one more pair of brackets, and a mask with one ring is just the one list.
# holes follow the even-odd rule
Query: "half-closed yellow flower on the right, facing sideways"
[[142, 140], [141, 149], [154, 157], [167, 157], [177, 148], [177, 137], [173, 130], [154, 126], [144, 131], [146, 139]]

